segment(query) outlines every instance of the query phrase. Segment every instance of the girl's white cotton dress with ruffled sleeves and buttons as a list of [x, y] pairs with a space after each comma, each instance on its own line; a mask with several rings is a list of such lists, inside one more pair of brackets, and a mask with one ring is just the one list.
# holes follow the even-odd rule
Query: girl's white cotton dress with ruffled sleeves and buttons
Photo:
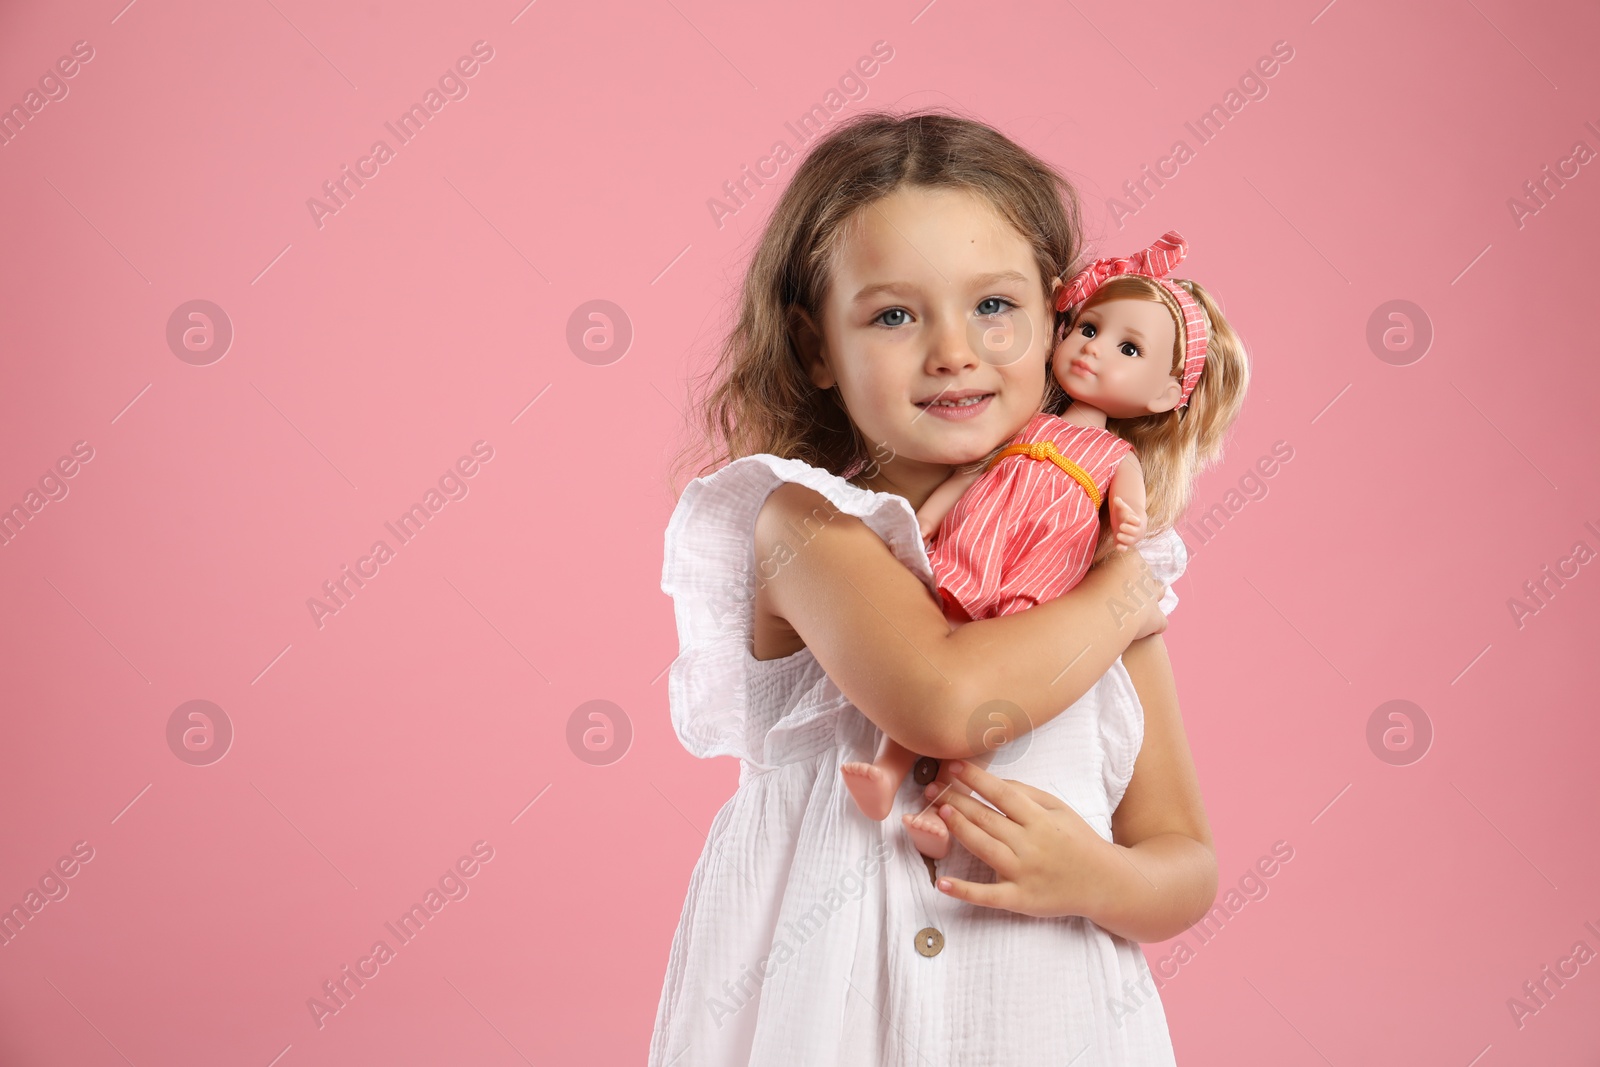
[[[939, 893], [899, 819], [923, 808], [912, 776], [882, 822], [840, 777], [842, 763], [872, 758], [877, 726], [810, 649], [754, 659], [755, 517], [782, 482], [864, 522], [936, 595], [901, 496], [766, 454], [685, 488], [661, 581], [682, 646], [669, 675], [672, 726], [698, 757], [738, 757], [739, 787], [690, 877], [650, 1064], [1173, 1064], [1139, 945], [1085, 918], [1032, 918]], [[1187, 561], [1173, 531], [1139, 549], [1168, 587]], [[1173, 605], [1168, 590], [1162, 606]], [[1061, 797], [1110, 840], [1142, 739], [1144, 712], [1118, 661], [1077, 704], [1000, 749], [990, 769]], [[938, 872], [994, 880], [960, 843]], [[934, 955], [918, 952], [918, 937], [930, 949], [928, 929], [942, 937]]]

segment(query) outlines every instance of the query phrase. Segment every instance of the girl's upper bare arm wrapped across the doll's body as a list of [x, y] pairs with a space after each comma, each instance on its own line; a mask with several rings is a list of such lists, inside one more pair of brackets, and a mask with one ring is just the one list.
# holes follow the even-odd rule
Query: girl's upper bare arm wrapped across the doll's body
[[1160, 582], [1138, 552], [1126, 552], [1064, 597], [952, 630], [866, 523], [795, 483], [778, 486], [762, 507], [755, 553], [773, 561], [757, 609], [792, 627], [883, 733], [936, 758], [978, 752], [970, 726], [990, 701], [1014, 704], [1037, 729], [1083, 696], [1131, 640], [1165, 625]]

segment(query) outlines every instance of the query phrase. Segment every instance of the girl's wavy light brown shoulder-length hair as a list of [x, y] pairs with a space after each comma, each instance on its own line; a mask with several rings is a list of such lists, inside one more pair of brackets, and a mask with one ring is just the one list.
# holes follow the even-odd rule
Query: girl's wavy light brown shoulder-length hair
[[[821, 318], [845, 226], [901, 186], [966, 189], [987, 200], [1032, 245], [1046, 286], [1078, 258], [1077, 190], [1000, 131], [944, 112], [851, 118], [811, 149], [766, 221], [744, 275], [738, 325], [717, 363], [691, 381], [699, 440], [680, 450], [674, 485], [686, 467], [707, 474], [758, 453], [846, 478], [867, 466], [867, 443], [838, 390], [818, 389], [802, 366], [789, 315], [800, 307]], [[1048, 386], [1046, 397], [1056, 397], [1054, 382]]]

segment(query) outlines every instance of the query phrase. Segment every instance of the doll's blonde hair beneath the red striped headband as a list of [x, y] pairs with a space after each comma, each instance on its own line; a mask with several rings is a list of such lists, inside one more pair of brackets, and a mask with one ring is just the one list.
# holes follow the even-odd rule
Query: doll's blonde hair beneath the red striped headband
[[[1238, 418], [1238, 408], [1245, 402], [1245, 389], [1250, 384], [1250, 360], [1245, 357], [1245, 342], [1222, 317], [1222, 309], [1211, 299], [1211, 294], [1200, 288], [1198, 282], [1189, 278], [1170, 278], [1170, 282], [1184, 286], [1206, 317], [1208, 342], [1200, 381], [1195, 382], [1184, 408], [1157, 411], [1136, 419], [1106, 419], [1106, 429], [1133, 445], [1144, 469], [1147, 534], [1173, 526], [1189, 507], [1195, 475], [1222, 454], [1224, 438], [1229, 427], [1234, 426], [1234, 419]], [[1150, 278], [1139, 275], [1110, 278], [1074, 310], [1072, 322], [1067, 323], [1066, 330], [1072, 330], [1078, 315], [1096, 304], [1128, 298], [1157, 301], [1171, 314], [1178, 328], [1173, 341], [1171, 373], [1181, 381], [1184, 376], [1182, 310], [1173, 294]], [[1101, 541], [1094, 557], [1107, 555], [1112, 544], [1107, 525], [1101, 523]]]

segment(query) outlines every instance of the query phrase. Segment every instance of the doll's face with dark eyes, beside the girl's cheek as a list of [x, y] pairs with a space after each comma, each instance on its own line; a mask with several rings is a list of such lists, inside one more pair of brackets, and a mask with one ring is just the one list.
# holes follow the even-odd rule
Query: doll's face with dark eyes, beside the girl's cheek
[[1056, 381], [1074, 400], [1112, 419], [1178, 406], [1182, 382], [1173, 376], [1178, 325], [1165, 304], [1118, 298], [1078, 312], [1056, 346]]

